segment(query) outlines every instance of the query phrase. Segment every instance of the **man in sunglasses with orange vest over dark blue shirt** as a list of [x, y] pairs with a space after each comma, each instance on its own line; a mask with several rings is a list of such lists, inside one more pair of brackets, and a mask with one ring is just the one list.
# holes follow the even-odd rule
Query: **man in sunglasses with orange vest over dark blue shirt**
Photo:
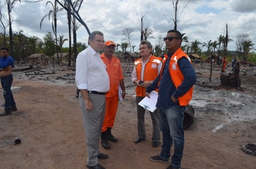
[[182, 123], [185, 106], [192, 99], [193, 84], [196, 75], [190, 58], [181, 49], [182, 35], [177, 30], [169, 30], [164, 42], [168, 50], [162, 60], [159, 76], [146, 88], [146, 96], [159, 88], [156, 107], [159, 109], [159, 125], [163, 134], [160, 155], [149, 157], [150, 160], [169, 163], [170, 150], [174, 142], [175, 151], [172, 163], [167, 169], [178, 169], [184, 149], [184, 131]]

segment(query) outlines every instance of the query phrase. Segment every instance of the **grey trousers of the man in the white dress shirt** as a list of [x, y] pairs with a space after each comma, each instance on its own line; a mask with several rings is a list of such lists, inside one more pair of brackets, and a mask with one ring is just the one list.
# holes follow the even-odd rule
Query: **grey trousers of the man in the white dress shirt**
[[81, 117], [84, 123], [84, 131], [87, 138], [87, 165], [97, 165], [98, 155], [100, 155], [99, 143], [102, 133], [102, 124], [105, 117], [105, 95], [89, 93], [93, 109], [85, 109], [84, 98], [79, 93], [79, 104]]

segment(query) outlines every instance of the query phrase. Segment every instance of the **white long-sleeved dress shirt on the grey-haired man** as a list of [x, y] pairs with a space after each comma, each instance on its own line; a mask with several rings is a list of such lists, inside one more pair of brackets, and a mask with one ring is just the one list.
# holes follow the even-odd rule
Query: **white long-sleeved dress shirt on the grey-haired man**
[[110, 90], [110, 80], [106, 65], [100, 58], [100, 53], [91, 46], [79, 52], [76, 58], [76, 86], [87, 91], [107, 92]]

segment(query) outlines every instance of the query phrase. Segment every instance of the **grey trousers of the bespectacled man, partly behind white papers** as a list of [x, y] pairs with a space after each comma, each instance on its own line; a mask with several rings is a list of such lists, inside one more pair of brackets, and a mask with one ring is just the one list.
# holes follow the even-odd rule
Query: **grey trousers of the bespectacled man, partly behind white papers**
[[[139, 106], [138, 103], [144, 99], [144, 97], [136, 96], [136, 104], [137, 104], [137, 118], [138, 118], [138, 137], [141, 139], [146, 138], [145, 131], [145, 109], [142, 106]], [[158, 109], [156, 109], [153, 113], [149, 111], [151, 115], [152, 124], [153, 124], [153, 132], [151, 140], [153, 142], [160, 142], [160, 129], [159, 129], [159, 117], [158, 117]]]

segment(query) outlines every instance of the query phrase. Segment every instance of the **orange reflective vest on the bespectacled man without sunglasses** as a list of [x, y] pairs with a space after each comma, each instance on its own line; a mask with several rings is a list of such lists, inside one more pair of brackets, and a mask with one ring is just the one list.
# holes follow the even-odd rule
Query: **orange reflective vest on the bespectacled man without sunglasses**
[[[159, 63], [161, 63], [162, 58], [156, 57], [154, 55], [151, 55], [149, 58], [148, 63], [146, 63], [144, 68], [144, 79], [141, 78], [141, 58], [138, 60], [135, 60], [135, 66], [136, 66], [136, 75], [138, 81], [154, 81], [154, 79], [158, 76], [158, 70], [157, 67]], [[138, 86], [136, 87], [136, 96], [145, 97], [146, 88]], [[157, 90], [156, 90], [157, 91]]]

